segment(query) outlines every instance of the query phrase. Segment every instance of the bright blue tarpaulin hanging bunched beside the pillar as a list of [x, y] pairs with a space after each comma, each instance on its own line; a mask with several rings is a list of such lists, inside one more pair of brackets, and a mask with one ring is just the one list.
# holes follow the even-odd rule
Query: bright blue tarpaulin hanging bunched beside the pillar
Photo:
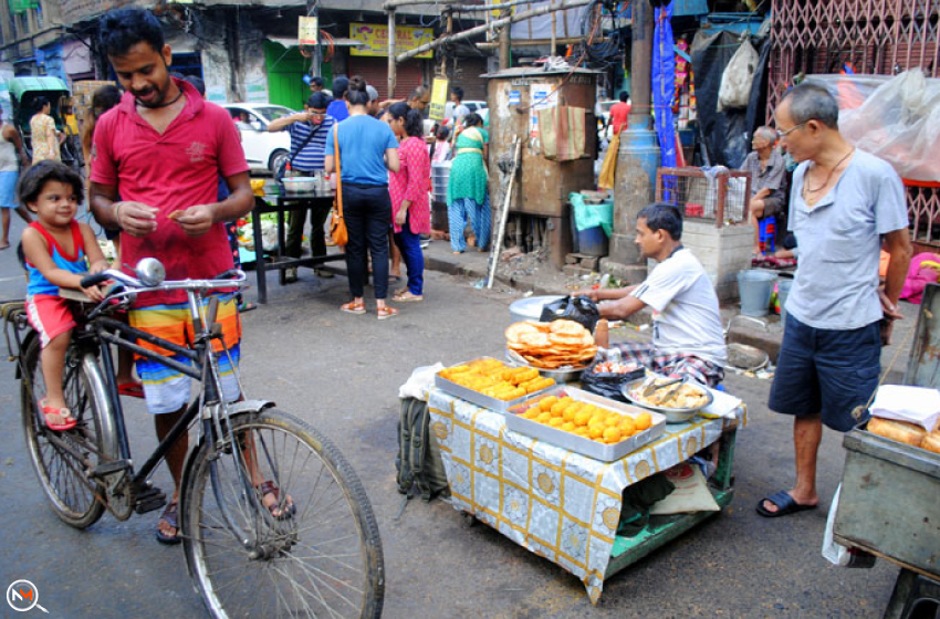
[[672, 127], [672, 97], [676, 95], [676, 52], [672, 50], [672, 3], [656, 9], [652, 33], [652, 109], [664, 168], [676, 166], [676, 129]]

